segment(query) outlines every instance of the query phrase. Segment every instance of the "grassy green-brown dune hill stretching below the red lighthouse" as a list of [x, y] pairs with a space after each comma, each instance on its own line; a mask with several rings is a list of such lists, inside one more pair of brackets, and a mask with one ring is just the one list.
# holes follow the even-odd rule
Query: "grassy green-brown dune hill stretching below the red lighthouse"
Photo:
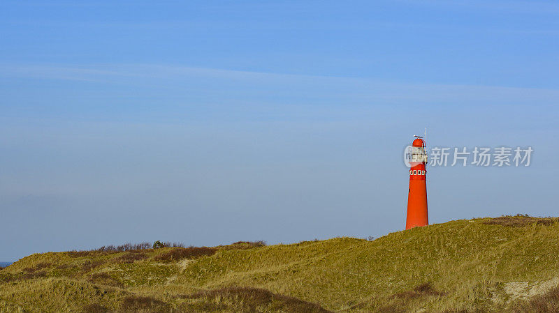
[[558, 220], [516, 216], [375, 241], [33, 254], [0, 270], [0, 312], [559, 312], [558, 284]]

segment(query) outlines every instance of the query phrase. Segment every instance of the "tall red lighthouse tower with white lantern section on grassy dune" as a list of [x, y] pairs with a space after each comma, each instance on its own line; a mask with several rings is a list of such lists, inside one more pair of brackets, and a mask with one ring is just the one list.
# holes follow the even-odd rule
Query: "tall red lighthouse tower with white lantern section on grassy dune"
[[427, 214], [427, 150], [422, 137], [409, 147], [409, 191], [407, 194], [406, 229], [429, 224]]

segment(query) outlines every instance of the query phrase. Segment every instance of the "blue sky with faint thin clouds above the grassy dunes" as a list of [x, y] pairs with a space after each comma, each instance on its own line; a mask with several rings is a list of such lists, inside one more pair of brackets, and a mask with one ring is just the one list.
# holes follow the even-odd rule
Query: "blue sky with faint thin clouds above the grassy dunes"
[[0, 260], [399, 231], [425, 127], [535, 151], [430, 168], [430, 222], [558, 215], [555, 1], [184, 2], [0, 3]]

